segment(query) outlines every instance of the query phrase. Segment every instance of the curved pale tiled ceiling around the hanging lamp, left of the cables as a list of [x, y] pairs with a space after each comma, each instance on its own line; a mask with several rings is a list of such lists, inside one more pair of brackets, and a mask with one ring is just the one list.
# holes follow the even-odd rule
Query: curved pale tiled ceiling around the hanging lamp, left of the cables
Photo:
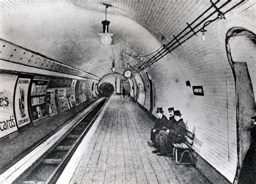
[[[110, 20], [113, 44], [101, 46], [102, 20]], [[99, 77], [136, 66], [205, 11], [209, 1], [4, 1], [1, 38]], [[164, 36], [164, 37], [163, 37]], [[165, 38], [165, 39], [162, 39]]]

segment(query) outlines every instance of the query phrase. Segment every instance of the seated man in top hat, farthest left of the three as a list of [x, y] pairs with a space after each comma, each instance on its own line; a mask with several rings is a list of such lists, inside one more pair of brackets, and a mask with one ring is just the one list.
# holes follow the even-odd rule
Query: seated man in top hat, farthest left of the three
[[156, 139], [156, 135], [157, 133], [159, 133], [159, 131], [166, 126], [168, 119], [165, 117], [165, 115], [163, 115], [163, 108], [157, 108], [157, 117], [158, 120], [157, 122], [154, 124], [153, 128], [151, 129], [151, 136], [150, 136], [150, 141], [147, 141], [147, 143], [149, 145], [154, 145], [155, 144], [155, 139]]

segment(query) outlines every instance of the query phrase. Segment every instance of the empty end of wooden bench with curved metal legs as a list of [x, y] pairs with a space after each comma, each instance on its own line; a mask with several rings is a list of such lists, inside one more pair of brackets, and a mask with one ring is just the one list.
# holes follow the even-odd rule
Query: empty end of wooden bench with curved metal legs
[[[174, 164], [192, 164], [193, 163], [193, 158], [192, 158], [192, 145], [193, 145], [193, 141], [194, 141], [194, 133], [187, 131], [186, 134], [186, 143], [180, 143], [180, 144], [174, 144], [173, 143], [173, 161]], [[181, 155], [180, 158], [178, 159], [178, 151], [181, 151]], [[188, 155], [190, 155], [191, 158], [191, 162], [181, 162], [184, 153], [187, 153]]]

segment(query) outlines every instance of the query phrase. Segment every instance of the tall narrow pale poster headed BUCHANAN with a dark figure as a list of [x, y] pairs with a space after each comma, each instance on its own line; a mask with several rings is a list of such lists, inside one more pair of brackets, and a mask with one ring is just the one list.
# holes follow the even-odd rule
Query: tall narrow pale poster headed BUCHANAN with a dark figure
[[30, 123], [28, 110], [28, 91], [31, 79], [19, 78], [15, 91], [15, 115], [18, 127]]

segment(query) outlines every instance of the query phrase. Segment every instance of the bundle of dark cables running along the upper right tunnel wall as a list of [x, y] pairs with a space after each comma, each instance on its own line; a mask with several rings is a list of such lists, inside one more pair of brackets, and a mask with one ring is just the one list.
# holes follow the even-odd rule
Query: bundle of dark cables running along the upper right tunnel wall
[[[218, 2], [219, 2], [219, 1], [218, 1]], [[217, 4], [218, 2], [216, 2], [215, 4]], [[212, 6], [211, 6], [210, 8], [208, 8], [206, 11], [208, 11], [208, 10], [210, 10], [212, 7], [214, 7], [214, 8], [215, 8], [215, 11], [214, 11], [214, 12], [212, 12], [210, 15], [208, 15], [206, 18], [204, 18], [204, 19], [203, 19], [200, 23], [198, 23], [196, 26], [194, 26], [193, 29], [191, 29], [191, 24], [193, 24], [194, 22], [196, 22], [196, 20], [198, 20], [199, 17], [201, 17], [206, 11], [205, 11], [202, 15], [200, 15], [196, 20], [194, 20], [191, 24], [188, 24], [188, 23], [187, 23], [188, 26], [176, 36], [176, 39], [175, 39], [175, 38], [172, 39], [167, 45], [171, 44], [172, 41], [175, 41], [175, 42], [174, 42], [172, 45], [170, 45], [169, 47], [167, 47], [167, 45], [166, 45], [166, 46], [164, 45], [164, 47], [163, 47], [157, 54], [153, 55], [152, 58], [149, 59], [149, 60], [144, 64], [144, 66], [141, 66], [141, 67], [140, 67], [140, 70], [143, 70], [144, 68], [146, 68], [146, 67], [148, 67], [149, 65], [151, 65], [151, 63], [154, 63], [154, 62], [158, 61], [159, 59], [163, 58], [166, 54], [168, 54], [169, 52], [171, 52], [174, 48], [177, 48], [180, 44], [184, 43], [186, 40], [188, 40], [188, 39], [190, 39], [191, 37], [193, 37], [194, 35], [196, 35], [196, 33], [200, 32], [201, 29], [199, 29], [199, 30], [196, 31], [196, 32], [194, 31], [194, 29], [195, 29], [196, 27], [198, 27], [199, 25], [201, 25], [206, 19], [208, 19], [209, 17], [211, 17], [214, 13], [218, 12], [218, 13], [221, 13], [221, 15], [225, 15], [225, 13], [227, 13], [227, 12], [233, 10], [235, 7], [237, 7], [237, 6], [240, 5], [241, 3], [245, 2], [245, 0], [241, 0], [239, 3], [235, 4], [234, 6], [232, 6], [232, 8], [228, 9], [228, 10], [225, 11], [225, 12], [221, 12], [220, 9], [223, 8], [225, 5], [227, 5], [227, 4], [230, 3], [230, 2], [231, 2], [231, 0], [228, 0], [228, 1], [225, 2], [223, 5], [221, 5], [220, 8], [216, 8], [215, 4], [211, 1]], [[213, 5], [213, 4], [214, 4], [214, 5]], [[215, 18], [215, 19], [213, 19], [213, 20], [208, 20], [207, 22], [204, 23], [203, 28], [206, 27], [206, 26], [208, 26], [208, 25], [210, 25], [212, 22], [214, 22], [214, 21], [217, 20], [217, 19], [219, 19], [219, 18], [217, 17], [217, 18]], [[186, 32], [182, 37], [180, 37], [179, 39], [177, 39], [177, 37], [178, 37], [182, 32], [184, 32], [187, 28], [190, 28], [190, 31]], [[187, 34], [189, 34], [190, 32], [193, 32], [193, 34], [192, 34], [190, 37], [188, 37], [188, 38], [187, 38], [186, 40], [184, 40], [184, 41], [179, 42], [179, 40], [181, 40], [182, 38], [184, 38], [185, 36], [187, 36]], [[178, 40], [178, 41], [177, 41], [177, 40]], [[177, 43], [178, 43], [179, 45], [177, 45], [177, 46], [171, 48], [173, 45], [175, 45], [175, 44], [177, 44]], [[171, 48], [171, 49], [170, 49], [170, 48]], [[162, 51], [163, 51], [163, 52], [162, 52]], [[166, 52], [167, 52], [167, 53], [166, 53]], [[159, 57], [160, 57], [160, 58], [159, 58]], [[150, 62], [150, 61], [151, 61], [151, 62]]]

